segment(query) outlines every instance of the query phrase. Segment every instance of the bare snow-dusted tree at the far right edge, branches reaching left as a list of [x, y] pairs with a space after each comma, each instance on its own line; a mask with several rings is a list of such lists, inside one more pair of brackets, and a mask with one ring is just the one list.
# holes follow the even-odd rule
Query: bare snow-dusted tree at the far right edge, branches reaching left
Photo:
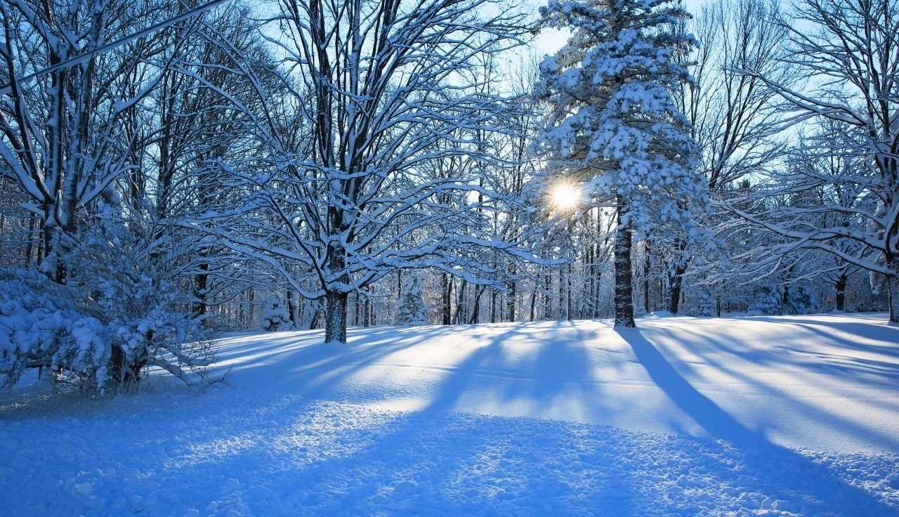
[[[773, 184], [770, 195], [826, 187], [850, 189], [851, 206], [828, 198], [815, 206], [790, 208], [783, 214], [747, 213], [743, 218], [786, 237], [789, 249], [813, 248], [839, 256], [869, 272], [883, 274], [890, 321], [899, 322], [899, 5], [892, 0], [808, 0], [795, 6], [793, 20], [781, 19], [792, 51], [781, 59], [806, 77], [798, 89], [762, 71], [748, 70], [784, 100], [793, 123], [818, 124], [826, 141], [821, 153], [850, 157], [854, 164], [840, 174], [806, 174], [806, 181]], [[825, 212], [850, 213], [864, 222], [821, 218]], [[849, 239], [861, 245], [848, 252]]]

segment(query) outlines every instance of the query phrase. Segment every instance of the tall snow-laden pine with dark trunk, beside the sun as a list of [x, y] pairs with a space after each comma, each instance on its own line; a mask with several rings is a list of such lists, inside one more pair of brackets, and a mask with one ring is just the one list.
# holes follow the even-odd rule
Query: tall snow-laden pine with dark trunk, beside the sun
[[672, 29], [690, 14], [671, 0], [550, 0], [540, 13], [544, 26], [573, 35], [540, 66], [537, 90], [551, 111], [539, 150], [616, 207], [615, 325], [635, 326], [634, 232], [689, 238], [691, 207], [706, 201], [690, 122], [672, 98], [690, 81], [673, 57], [695, 44]]

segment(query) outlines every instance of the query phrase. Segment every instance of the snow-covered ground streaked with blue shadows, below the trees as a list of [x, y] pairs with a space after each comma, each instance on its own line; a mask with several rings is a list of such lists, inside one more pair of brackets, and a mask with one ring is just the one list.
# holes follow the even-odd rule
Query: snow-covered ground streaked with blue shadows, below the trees
[[234, 388], [0, 395], [3, 515], [899, 515], [886, 316], [230, 335]]

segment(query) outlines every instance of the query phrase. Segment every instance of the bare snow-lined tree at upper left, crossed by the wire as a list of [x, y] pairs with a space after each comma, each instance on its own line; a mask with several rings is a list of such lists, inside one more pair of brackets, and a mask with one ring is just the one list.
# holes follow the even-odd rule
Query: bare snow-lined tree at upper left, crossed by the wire
[[[55, 67], [152, 21], [165, 5], [4, 0], [0, 67], [10, 94], [0, 103], [0, 159], [31, 198], [43, 225], [44, 263], [65, 281], [61, 256], [76, 236], [79, 213], [136, 165], [126, 148], [134, 137], [122, 123], [162, 76], [148, 65], [158, 40], [134, 41], [93, 54], [24, 83], [20, 77]], [[59, 245], [63, 249], [58, 249]]]

